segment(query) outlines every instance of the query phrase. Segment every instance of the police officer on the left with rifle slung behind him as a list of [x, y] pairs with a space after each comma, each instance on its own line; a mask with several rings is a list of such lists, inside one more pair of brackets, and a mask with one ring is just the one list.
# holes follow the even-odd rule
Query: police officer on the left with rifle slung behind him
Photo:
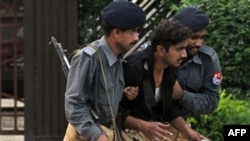
[[123, 95], [122, 56], [139, 40], [145, 13], [128, 1], [113, 1], [101, 12], [104, 36], [71, 59], [65, 92], [69, 122], [64, 141], [120, 141], [115, 137]]

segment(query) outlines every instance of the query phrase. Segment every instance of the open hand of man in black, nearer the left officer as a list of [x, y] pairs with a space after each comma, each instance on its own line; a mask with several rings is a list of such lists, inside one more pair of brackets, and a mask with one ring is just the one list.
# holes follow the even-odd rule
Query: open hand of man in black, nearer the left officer
[[142, 127], [142, 132], [150, 141], [172, 141], [166, 135], [173, 135], [167, 129], [169, 124], [161, 122], [146, 122]]

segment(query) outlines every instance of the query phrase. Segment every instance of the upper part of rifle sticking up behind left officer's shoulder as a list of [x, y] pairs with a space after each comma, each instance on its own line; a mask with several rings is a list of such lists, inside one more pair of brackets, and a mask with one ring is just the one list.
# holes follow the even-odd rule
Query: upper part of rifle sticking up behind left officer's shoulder
[[64, 73], [65, 77], [67, 78], [68, 73], [69, 73], [69, 68], [70, 68], [68, 58], [65, 55], [65, 52], [67, 52], [67, 51], [63, 49], [61, 43], [58, 43], [56, 41], [56, 38], [53, 37], [53, 36], [51, 36], [51, 41], [49, 41], [49, 44], [52, 44], [52, 43], [53, 43], [53, 45], [54, 45], [54, 47], [56, 49], [57, 55], [60, 58], [60, 61], [62, 63], [63, 73]]

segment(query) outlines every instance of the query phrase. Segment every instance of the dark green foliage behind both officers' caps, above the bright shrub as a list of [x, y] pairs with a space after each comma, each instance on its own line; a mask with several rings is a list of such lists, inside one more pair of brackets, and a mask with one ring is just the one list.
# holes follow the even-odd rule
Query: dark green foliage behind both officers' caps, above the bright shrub
[[[99, 30], [101, 24], [99, 14], [111, 1], [79, 0], [80, 44], [100, 38], [102, 32]], [[224, 74], [222, 87], [248, 91], [250, 87], [249, 0], [161, 0], [154, 2], [152, 6], [157, 12], [147, 19], [141, 36], [153, 29], [159, 20], [171, 17], [183, 7], [195, 6], [205, 11], [211, 23], [207, 28], [204, 43], [213, 47], [219, 55]]]

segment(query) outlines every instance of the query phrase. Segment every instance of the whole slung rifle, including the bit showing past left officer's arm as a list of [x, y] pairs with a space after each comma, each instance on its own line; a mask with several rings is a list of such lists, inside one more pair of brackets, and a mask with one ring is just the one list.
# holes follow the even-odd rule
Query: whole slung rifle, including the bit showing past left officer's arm
[[[58, 43], [56, 41], [56, 38], [51, 36], [51, 41], [49, 41], [49, 44], [52, 44], [54, 45], [55, 49], [56, 49], [56, 52], [57, 52], [57, 55], [58, 57], [60, 58], [60, 61], [62, 63], [62, 70], [63, 70], [63, 73], [67, 79], [68, 77], [68, 73], [69, 73], [69, 68], [70, 68], [70, 65], [69, 65], [69, 61], [68, 61], [68, 58], [67, 56], [65, 55], [65, 52], [67, 52], [66, 50], [63, 49], [61, 43]], [[91, 115], [93, 116], [93, 118], [95, 120], [99, 120], [99, 116], [97, 115], [97, 113], [92, 109], [91, 106], [87, 105]]]

